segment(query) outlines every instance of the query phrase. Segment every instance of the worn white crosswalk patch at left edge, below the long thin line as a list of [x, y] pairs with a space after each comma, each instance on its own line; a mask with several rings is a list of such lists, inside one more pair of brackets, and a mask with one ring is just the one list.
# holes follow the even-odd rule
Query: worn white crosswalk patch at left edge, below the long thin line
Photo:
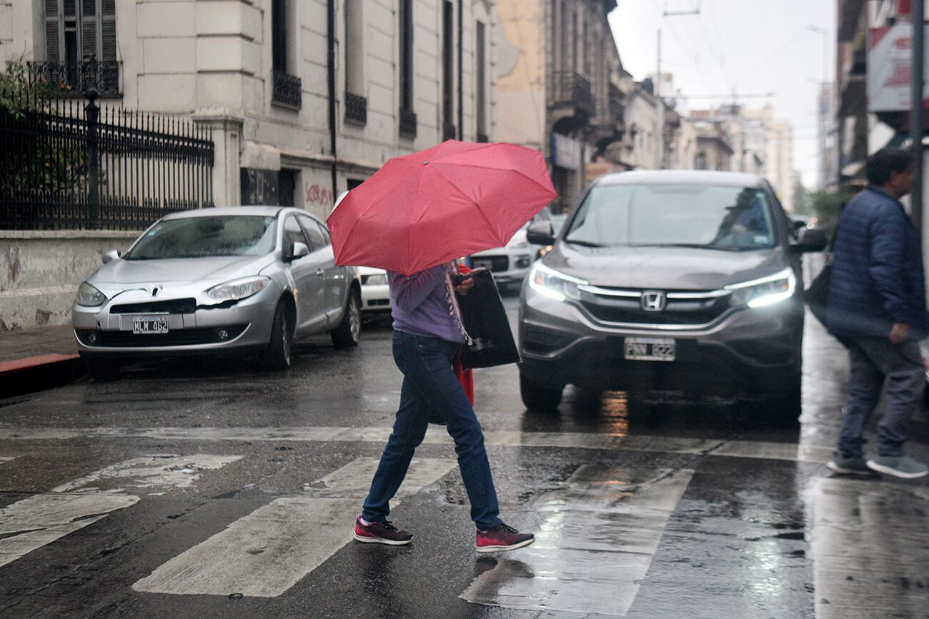
[[127, 508], [138, 496], [81, 493], [30, 496], [0, 509], [0, 565]]

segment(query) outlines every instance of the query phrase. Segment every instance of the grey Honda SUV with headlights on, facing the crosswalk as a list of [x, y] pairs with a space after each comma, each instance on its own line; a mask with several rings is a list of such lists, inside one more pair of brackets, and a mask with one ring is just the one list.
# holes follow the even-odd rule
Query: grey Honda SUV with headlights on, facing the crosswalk
[[796, 419], [804, 329], [801, 254], [820, 230], [795, 226], [751, 174], [628, 172], [587, 189], [519, 304], [520, 392], [551, 409], [562, 389], [648, 386], [760, 395]]

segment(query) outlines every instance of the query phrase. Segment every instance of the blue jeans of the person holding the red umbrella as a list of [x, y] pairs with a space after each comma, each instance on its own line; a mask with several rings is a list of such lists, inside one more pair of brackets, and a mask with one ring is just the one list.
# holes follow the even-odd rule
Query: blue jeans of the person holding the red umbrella
[[484, 449], [484, 433], [451, 369], [458, 346], [438, 338], [394, 331], [394, 361], [403, 372], [403, 387], [394, 431], [364, 500], [361, 518], [366, 521], [386, 521], [389, 501], [397, 494], [410, 468], [413, 451], [423, 442], [432, 410], [448, 421], [464, 489], [471, 501], [471, 520], [482, 530], [502, 522], [491, 463]]

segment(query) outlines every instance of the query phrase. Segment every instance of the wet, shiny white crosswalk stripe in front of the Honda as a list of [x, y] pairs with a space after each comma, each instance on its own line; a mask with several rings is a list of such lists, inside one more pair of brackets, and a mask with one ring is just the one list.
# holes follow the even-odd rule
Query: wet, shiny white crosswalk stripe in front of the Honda
[[528, 611], [624, 615], [692, 476], [582, 466], [566, 489], [527, 506], [547, 514], [535, 544], [509, 553], [459, 597]]

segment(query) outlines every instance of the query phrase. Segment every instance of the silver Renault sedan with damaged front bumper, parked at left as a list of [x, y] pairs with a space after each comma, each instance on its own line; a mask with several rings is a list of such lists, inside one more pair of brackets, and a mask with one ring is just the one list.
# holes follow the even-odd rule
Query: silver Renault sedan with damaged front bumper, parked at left
[[293, 342], [308, 336], [359, 342], [357, 269], [335, 265], [329, 231], [305, 211], [174, 213], [103, 263], [72, 306], [78, 353], [98, 378], [164, 355], [254, 354], [286, 369]]

